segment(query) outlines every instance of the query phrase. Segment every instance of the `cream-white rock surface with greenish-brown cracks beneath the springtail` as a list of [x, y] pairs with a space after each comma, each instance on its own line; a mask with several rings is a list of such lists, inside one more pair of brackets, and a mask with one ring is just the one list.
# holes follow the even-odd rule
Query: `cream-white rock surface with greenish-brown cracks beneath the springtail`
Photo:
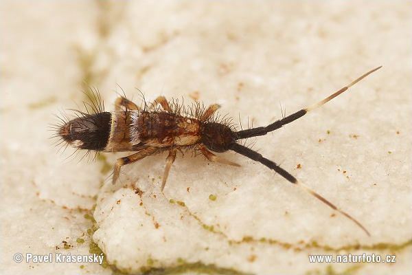
[[[18, 252], [89, 254], [92, 238], [108, 263], [130, 273], [411, 273], [411, 3], [30, 3], [1, 2], [1, 274], [111, 272], [13, 261]], [[162, 94], [185, 104], [198, 91], [246, 128], [379, 65], [320, 109], [247, 141], [371, 237], [234, 153], [225, 157], [241, 168], [178, 155], [163, 195], [166, 154], [125, 167], [111, 186], [106, 167], [126, 154], [79, 162], [82, 153], [56, 154], [48, 140], [52, 113], [78, 108], [84, 81], [100, 89], [107, 110], [122, 89], [137, 103], [136, 87], [146, 100]], [[84, 214], [95, 203], [91, 236]], [[393, 254], [396, 263], [308, 261], [349, 253]]]

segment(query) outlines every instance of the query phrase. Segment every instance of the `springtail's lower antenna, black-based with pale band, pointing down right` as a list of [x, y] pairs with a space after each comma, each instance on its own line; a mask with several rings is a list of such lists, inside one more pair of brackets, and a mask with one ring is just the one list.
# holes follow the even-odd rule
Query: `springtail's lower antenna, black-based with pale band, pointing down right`
[[308, 192], [310, 195], [316, 197], [317, 199], [319, 199], [320, 201], [325, 203], [327, 206], [329, 206], [333, 210], [338, 211], [339, 213], [343, 214], [348, 219], [352, 220], [354, 223], [356, 223], [356, 225], [358, 225], [360, 228], [362, 228], [362, 230], [365, 231], [365, 233], [368, 236], [371, 235], [371, 234], [369, 234], [369, 231], [367, 231], [367, 229], [365, 227], [363, 227], [363, 225], [361, 225], [361, 223], [356, 221], [356, 219], [352, 218], [350, 216], [350, 214], [347, 214], [343, 210], [341, 210], [341, 209], [337, 208], [336, 206], [334, 206], [333, 203], [331, 203], [330, 201], [328, 201], [327, 199], [325, 199], [324, 197], [319, 195], [317, 192], [314, 192], [313, 190], [311, 190], [308, 186], [306, 186], [306, 184], [302, 184], [301, 182], [299, 182], [295, 177], [293, 177], [293, 175], [290, 175], [290, 173], [288, 173], [288, 171], [284, 170], [284, 168], [281, 168], [280, 166], [275, 164], [275, 162], [272, 162], [271, 160], [266, 159], [260, 153], [255, 152], [252, 149], [247, 148], [243, 145], [240, 145], [240, 144], [237, 144], [237, 143], [232, 143], [230, 147], [231, 147], [230, 150], [233, 150], [236, 153], [240, 153], [240, 155], [244, 155], [245, 157], [249, 157], [249, 159], [253, 159], [256, 162], [260, 162], [264, 166], [267, 166], [268, 168], [270, 168], [272, 170], [275, 170], [276, 173], [278, 173], [279, 175], [281, 175], [282, 177], [284, 177], [285, 179], [290, 181], [292, 184], [295, 184], [295, 185], [299, 186], [300, 188], [302, 188], [303, 190]]

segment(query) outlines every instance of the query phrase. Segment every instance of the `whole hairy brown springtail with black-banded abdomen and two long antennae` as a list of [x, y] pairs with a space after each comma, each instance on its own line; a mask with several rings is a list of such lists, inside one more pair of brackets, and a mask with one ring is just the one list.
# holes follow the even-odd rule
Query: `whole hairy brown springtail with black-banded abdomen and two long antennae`
[[[266, 135], [266, 133], [275, 131], [285, 124], [301, 118], [309, 111], [339, 96], [377, 69], [380, 69], [380, 67], [372, 69], [370, 72], [354, 80], [350, 85], [321, 100], [321, 102], [301, 109], [268, 126], [236, 131], [227, 120], [218, 119], [215, 113], [220, 107], [218, 104], [212, 104], [208, 108], [203, 108], [200, 104], [197, 104], [195, 107], [189, 108], [189, 111], [186, 111], [176, 102], [168, 102], [163, 96], [159, 96], [151, 105], [146, 104], [143, 109], [137, 107], [130, 100], [120, 97], [115, 102], [115, 111], [106, 112], [104, 111], [100, 96], [96, 94], [98, 103], [93, 105], [95, 113], [80, 112], [78, 118], [69, 121], [62, 120], [62, 124], [56, 126], [57, 135], [68, 144], [89, 151], [136, 152], [133, 155], [117, 159], [113, 169], [113, 184], [119, 178], [122, 166], [137, 162], [149, 155], [168, 151], [169, 155], [166, 158], [161, 186], [162, 191], [168, 179], [170, 167], [176, 158], [176, 153], [181, 151], [182, 148], [199, 151], [211, 162], [240, 166], [212, 153], [235, 151], [275, 170], [276, 173], [292, 184], [306, 190], [306, 192], [317, 197], [317, 199], [323, 201], [330, 208], [354, 221], [369, 235], [366, 228], [356, 219], [312, 191], [305, 184], [299, 182], [293, 175], [275, 164], [275, 162], [266, 159], [251, 148], [239, 144], [238, 140]], [[161, 105], [161, 108], [157, 107], [158, 104]]]

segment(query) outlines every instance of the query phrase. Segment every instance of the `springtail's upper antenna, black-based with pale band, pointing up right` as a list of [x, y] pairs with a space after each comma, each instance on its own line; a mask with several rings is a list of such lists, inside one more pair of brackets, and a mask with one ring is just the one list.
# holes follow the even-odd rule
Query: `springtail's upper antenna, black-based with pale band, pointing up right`
[[285, 124], [288, 124], [290, 122], [293, 122], [293, 121], [297, 120], [298, 118], [301, 118], [302, 116], [306, 115], [306, 113], [308, 113], [309, 111], [317, 109], [317, 107], [321, 107], [326, 102], [329, 102], [333, 98], [336, 98], [336, 96], [339, 96], [344, 91], [346, 91], [347, 89], [349, 89], [350, 87], [352, 87], [353, 85], [355, 85], [356, 83], [361, 81], [363, 78], [369, 76], [369, 74], [371, 74], [371, 73], [375, 72], [376, 70], [380, 69], [381, 67], [382, 66], [377, 67], [375, 69], [372, 69], [371, 71], [367, 72], [363, 76], [361, 76], [361, 77], [357, 78], [356, 80], [354, 80], [352, 83], [350, 83], [350, 85], [347, 85], [347, 86], [343, 87], [342, 89], [340, 89], [339, 91], [336, 91], [336, 93], [328, 96], [328, 98], [325, 98], [324, 100], [321, 100], [317, 104], [313, 104], [310, 107], [306, 107], [304, 109], [301, 109], [300, 111], [297, 111], [296, 113], [288, 115], [288, 116], [286, 116], [286, 118], [282, 118], [282, 120], [277, 120], [277, 121], [273, 122], [272, 124], [269, 124], [266, 127], [257, 127], [257, 128], [243, 130], [243, 131], [238, 131], [236, 133], [237, 136], [238, 136], [238, 140], [243, 139], [243, 138], [247, 138], [247, 137], [257, 137], [259, 135], [266, 135], [266, 133], [269, 133], [271, 131], [275, 131], [276, 129], [279, 129], [280, 127], [284, 126]]

